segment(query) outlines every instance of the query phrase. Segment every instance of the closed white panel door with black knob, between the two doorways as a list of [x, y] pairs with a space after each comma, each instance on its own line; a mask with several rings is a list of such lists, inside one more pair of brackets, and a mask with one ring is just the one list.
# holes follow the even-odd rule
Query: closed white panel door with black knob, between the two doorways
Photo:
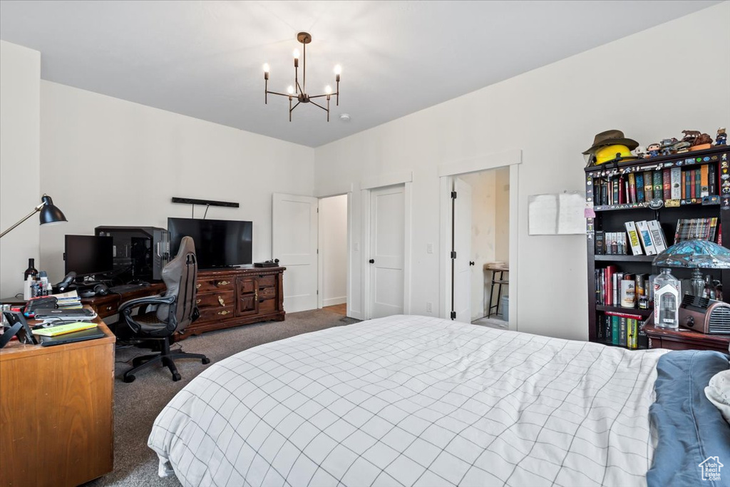
[[370, 317], [403, 312], [404, 185], [370, 193]]

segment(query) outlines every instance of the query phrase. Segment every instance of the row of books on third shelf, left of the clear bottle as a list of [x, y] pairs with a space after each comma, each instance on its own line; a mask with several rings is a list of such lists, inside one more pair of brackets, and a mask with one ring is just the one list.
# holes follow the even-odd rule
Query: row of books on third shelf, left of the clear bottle
[[614, 265], [596, 269], [596, 304], [636, 308], [642, 304], [651, 307], [655, 275], [618, 272]]

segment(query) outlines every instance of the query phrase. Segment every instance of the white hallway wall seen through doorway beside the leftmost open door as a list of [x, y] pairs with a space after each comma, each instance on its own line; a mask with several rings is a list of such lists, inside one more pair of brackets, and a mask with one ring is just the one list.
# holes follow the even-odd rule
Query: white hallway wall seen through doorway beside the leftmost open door
[[347, 195], [320, 199], [320, 258], [322, 305], [347, 301]]

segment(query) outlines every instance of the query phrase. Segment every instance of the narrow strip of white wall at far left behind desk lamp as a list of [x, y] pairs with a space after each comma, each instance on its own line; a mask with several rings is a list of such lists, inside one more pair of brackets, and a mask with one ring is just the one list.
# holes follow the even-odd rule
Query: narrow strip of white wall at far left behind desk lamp
[[[41, 55], [0, 41], [0, 231], [41, 202], [39, 133]], [[63, 210], [63, 208], [62, 208]], [[23, 291], [28, 258], [39, 261], [39, 220], [34, 215], [0, 239], [0, 297]]]

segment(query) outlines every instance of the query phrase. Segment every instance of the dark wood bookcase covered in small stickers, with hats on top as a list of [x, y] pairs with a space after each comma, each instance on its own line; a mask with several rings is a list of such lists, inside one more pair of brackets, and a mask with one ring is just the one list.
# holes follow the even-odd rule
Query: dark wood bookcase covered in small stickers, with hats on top
[[[624, 204], [596, 204], [596, 198], [599, 191], [596, 189], [596, 183], [602, 178], [612, 177], [615, 175], [625, 175], [629, 173], [640, 174], [649, 170], [671, 169], [673, 167], [681, 167], [688, 169], [696, 169], [703, 164], [715, 166], [715, 198], [713, 199], [683, 199], [677, 206], [675, 200], [664, 201], [662, 199], [661, 207], [658, 202], [653, 202], [650, 207], [649, 202], [636, 202]], [[588, 166], [585, 168], [585, 199], [588, 206], [593, 205], [595, 217], [586, 219], [586, 245], [588, 248], [588, 340], [591, 342], [605, 343], [612, 345], [610, 340], [604, 341], [598, 338], [599, 323], [602, 323], [604, 312], [619, 312], [631, 315], [639, 315], [642, 319], [648, 318], [653, 312], [653, 303], [650, 303], [650, 309], [641, 310], [636, 308], [626, 308], [620, 306], [603, 306], [597, 304], [596, 299], [596, 269], [605, 268], [609, 265], [615, 265], [618, 272], [628, 272], [631, 274], [649, 274], [656, 275], [660, 272], [656, 266], [652, 265], [655, 256], [633, 256], [629, 248], [629, 255], [596, 255], [596, 231], [626, 231], [624, 223], [627, 221], [652, 221], [657, 220], [661, 225], [666, 237], [667, 246], [675, 243], [675, 231], [677, 229], [677, 221], [683, 218], [718, 218], [718, 237], [724, 247], [730, 244], [730, 148], [724, 145], [713, 146], [707, 150], [698, 150], [694, 152], [672, 154], [671, 156], [657, 156], [649, 159], [639, 159], [637, 161], [626, 161], [611, 164], [602, 164], [600, 166]], [[589, 215], [590, 216], [590, 215]], [[715, 240], [717, 241], [717, 240]], [[691, 277], [691, 269], [672, 269], [672, 275], [680, 280], [689, 279]], [[723, 300], [730, 302], [730, 271], [716, 269], [702, 269], [702, 274], [710, 274], [714, 279], [718, 279], [723, 283]], [[621, 345], [618, 345], [621, 346]]]

